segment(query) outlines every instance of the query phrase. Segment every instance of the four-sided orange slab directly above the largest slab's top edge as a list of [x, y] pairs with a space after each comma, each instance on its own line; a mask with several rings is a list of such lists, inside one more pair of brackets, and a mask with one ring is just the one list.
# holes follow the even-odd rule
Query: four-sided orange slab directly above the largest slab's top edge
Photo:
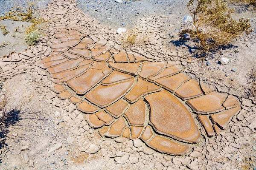
[[174, 92], [183, 83], [189, 80], [190, 77], [186, 73], [179, 73], [171, 77], [157, 80], [157, 84]]

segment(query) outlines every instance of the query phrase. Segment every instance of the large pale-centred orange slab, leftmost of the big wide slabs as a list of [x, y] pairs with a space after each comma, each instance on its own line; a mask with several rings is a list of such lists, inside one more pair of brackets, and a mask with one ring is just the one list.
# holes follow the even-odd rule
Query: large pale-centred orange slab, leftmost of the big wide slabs
[[102, 70], [90, 68], [87, 72], [81, 76], [67, 81], [67, 84], [76, 91], [77, 94], [84, 94], [97, 85], [107, 75], [102, 73]]

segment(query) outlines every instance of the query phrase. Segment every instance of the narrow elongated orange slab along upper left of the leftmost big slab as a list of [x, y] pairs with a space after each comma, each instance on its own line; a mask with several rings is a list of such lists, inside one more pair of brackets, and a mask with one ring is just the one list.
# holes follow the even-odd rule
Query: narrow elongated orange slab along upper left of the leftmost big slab
[[90, 68], [89, 65], [85, 65], [71, 71], [64, 71], [61, 73], [52, 74], [51, 76], [57, 79], [61, 79], [64, 82], [67, 82], [68, 80], [73, 79], [76, 76], [79, 76], [81, 73], [84, 73], [89, 68]]

